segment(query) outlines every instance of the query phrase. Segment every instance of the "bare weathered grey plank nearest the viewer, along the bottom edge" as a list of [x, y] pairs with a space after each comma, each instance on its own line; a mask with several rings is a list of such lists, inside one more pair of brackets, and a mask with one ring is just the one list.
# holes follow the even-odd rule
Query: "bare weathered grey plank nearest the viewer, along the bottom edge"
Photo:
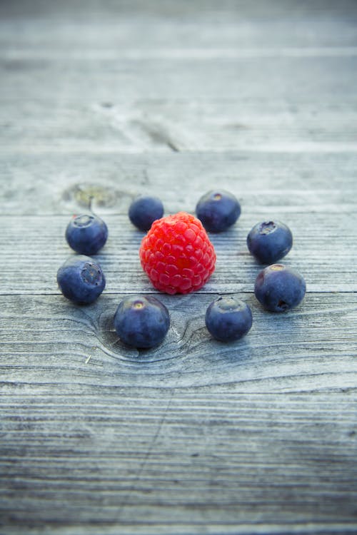
[[146, 534], [203, 533], [211, 523], [211, 533], [356, 526], [353, 392], [175, 388], [143, 396], [139, 388], [125, 404], [123, 389], [104, 386], [66, 396], [58, 387], [41, 397], [19, 385], [14, 392], [11, 411], [1, 403], [8, 430], [0, 484], [11, 481], [4, 524], [40, 528], [56, 519], [64, 533], [120, 525]]

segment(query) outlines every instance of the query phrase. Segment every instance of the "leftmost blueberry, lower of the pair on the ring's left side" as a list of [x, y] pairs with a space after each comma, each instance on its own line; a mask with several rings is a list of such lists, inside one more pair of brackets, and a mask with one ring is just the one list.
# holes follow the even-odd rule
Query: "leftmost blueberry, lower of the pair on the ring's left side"
[[84, 255], [66, 260], [57, 272], [57, 282], [64, 297], [79, 305], [95, 301], [106, 285], [100, 265]]

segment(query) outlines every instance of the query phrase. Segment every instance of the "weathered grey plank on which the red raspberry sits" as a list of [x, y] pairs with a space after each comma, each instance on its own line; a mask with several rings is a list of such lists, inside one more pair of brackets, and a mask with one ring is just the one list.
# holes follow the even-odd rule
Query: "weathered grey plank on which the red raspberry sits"
[[[343, 210], [343, 205], [338, 205], [340, 207], [342, 213], [337, 209], [332, 216], [329, 211], [301, 213], [296, 207], [285, 210], [247, 208], [233, 228], [226, 233], [210, 235], [216, 249], [216, 270], [199, 294], [253, 291], [254, 281], [263, 266], [248, 252], [246, 236], [253, 225], [264, 218], [283, 220], [291, 228], [293, 249], [282, 262], [301, 272], [308, 292], [356, 292], [357, 256], [350, 244], [356, 235], [357, 212]], [[0, 218], [6, 238], [1, 245], [6, 258], [1, 272], [4, 281], [1, 295], [59, 292], [56, 272], [64, 260], [74, 254], [64, 238], [70, 218], [71, 215]], [[156, 291], [139, 261], [144, 233], [130, 223], [127, 213], [108, 214], [105, 220], [109, 240], [96, 258], [106, 274], [106, 293]]]

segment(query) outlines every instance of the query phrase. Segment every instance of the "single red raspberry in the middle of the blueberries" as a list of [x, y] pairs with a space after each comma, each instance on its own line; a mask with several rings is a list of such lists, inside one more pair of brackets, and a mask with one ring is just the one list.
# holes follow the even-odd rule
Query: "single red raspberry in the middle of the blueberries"
[[139, 256], [154, 287], [169, 294], [199, 290], [216, 263], [201, 221], [186, 212], [154, 221], [141, 242]]

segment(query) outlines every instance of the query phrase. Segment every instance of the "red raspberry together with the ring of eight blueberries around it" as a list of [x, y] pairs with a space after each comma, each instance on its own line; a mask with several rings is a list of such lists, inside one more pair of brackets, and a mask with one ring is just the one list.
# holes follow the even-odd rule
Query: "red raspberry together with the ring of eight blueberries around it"
[[[163, 217], [164, 205], [156, 197], [141, 196], [131, 203], [129, 220], [146, 232], [141, 241], [141, 266], [160, 292], [187, 294], [199, 290], [211, 277], [216, 253], [208, 233], [228, 230], [241, 215], [241, 206], [226, 190], [211, 190], [198, 200], [196, 217], [186, 212]], [[106, 285], [101, 266], [89, 255], [106, 243], [108, 228], [94, 214], [74, 216], [66, 228], [69, 246], [79, 253], [57, 272], [64, 297], [78, 305], [94, 302]], [[254, 294], [263, 308], [286, 312], [303, 300], [306, 283], [291, 267], [278, 264], [291, 250], [293, 235], [280, 221], [261, 221], [247, 236], [249, 252], [268, 264], [256, 277]], [[205, 315], [206, 329], [220, 342], [239, 340], [251, 329], [250, 307], [233, 295], [213, 300]], [[169, 331], [169, 310], [156, 297], [131, 295], [119, 303], [114, 328], [121, 342], [139, 349], [161, 344]]]

